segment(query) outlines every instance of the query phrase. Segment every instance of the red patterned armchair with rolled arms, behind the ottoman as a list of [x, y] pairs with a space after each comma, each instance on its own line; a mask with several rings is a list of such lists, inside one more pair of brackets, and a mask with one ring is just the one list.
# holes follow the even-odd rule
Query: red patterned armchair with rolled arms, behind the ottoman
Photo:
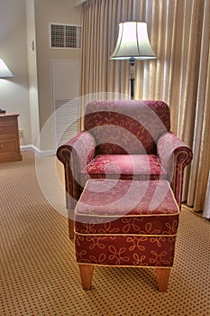
[[191, 149], [170, 132], [169, 106], [156, 100], [87, 104], [84, 131], [58, 148], [64, 164], [69, 237], [74, 209], [90, 178], [168, 180], [180, 207]]

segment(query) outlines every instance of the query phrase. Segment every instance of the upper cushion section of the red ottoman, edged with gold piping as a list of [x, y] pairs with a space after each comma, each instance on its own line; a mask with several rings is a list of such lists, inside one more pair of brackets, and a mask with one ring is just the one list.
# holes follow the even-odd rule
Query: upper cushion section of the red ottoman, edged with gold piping
[[75, 209], [81, 234], [175, 236], [178, 204], [169, 182], [94, 179]]

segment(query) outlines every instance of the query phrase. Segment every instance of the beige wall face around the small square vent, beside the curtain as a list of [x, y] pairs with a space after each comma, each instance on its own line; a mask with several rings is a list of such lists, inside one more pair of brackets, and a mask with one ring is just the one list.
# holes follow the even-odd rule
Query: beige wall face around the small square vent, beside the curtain
[[[74, 0], [35, 0], [40, 127], [52, 113], [50, 60], [78, 60], [80, 51], [50, 49], [50, 23], [80, 24], [81, 7]], [[72, 78], [74, 80], [74, 78]]]

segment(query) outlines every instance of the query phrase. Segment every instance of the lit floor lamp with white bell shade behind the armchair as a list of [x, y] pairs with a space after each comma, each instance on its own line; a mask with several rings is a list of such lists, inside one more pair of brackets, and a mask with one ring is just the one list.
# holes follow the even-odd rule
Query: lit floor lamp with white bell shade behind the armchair
[[130, 60], [131, 98], [134, 98], [135, 60], [155, 59], [145, 22], [119, 23], [119, 33], [110, 60]]

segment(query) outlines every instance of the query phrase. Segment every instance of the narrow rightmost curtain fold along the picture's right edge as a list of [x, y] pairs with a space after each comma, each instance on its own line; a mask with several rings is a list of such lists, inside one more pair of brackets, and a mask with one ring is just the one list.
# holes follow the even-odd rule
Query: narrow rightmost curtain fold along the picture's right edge
[[[193, 138], [194, 159], [190, 172], [188, 203], [203, 209], [210, 169], [210, 1], [205, 1], [199, 79], [196, 97], [196, 120]], [[210, 209], [209, 209], [210, 216]]]

